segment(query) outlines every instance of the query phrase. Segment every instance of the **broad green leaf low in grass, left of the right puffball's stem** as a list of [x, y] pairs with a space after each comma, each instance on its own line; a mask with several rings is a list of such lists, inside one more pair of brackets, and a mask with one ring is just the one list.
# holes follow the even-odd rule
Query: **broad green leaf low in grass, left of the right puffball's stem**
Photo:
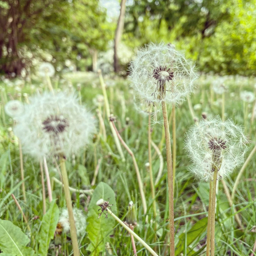
[[186, 234], [182, 233], [179, 236], [179, 242], [178, 245], [176, 246], [175, 255], [179, 255], [181, 252], [183, 252], [185, 246], [185, 235], [187, 236], [186, 246], [191, 245], [193, 241], [198, 239], [198, 237], [206, 230], [207, 220], [207, 217], [199, 220], [198, 222], [195, 223], [195, 225], [192, 226], [191, 229], [189, 229], [189, 231]]

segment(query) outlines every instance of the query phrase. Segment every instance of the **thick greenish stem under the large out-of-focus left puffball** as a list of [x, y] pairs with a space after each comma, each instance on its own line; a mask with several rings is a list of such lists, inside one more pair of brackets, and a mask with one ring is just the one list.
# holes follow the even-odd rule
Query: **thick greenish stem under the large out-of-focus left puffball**
[[70, 190], [69, 190], [69, 186], [68, 186], [68, 175], [67, 175], [67, 170], [66, 170], [66, 165], [65, 165], [65, 159], [63, 156], [60, 156], [60, 168], [61, 168], [61, 174], [62, 174], [62, 179], [63, 179], [66, 204], [67, 204], [67, 209], [68, 209], [68, 218], [69, 218], [69, 222], [70, 222], [70, 236], [71, 236], [74, 256], [79, 256], [80, 252], [78, 249], [78, 241], [77, 241], [77, 232], [75, 229], [74, 213], [73, 213]]

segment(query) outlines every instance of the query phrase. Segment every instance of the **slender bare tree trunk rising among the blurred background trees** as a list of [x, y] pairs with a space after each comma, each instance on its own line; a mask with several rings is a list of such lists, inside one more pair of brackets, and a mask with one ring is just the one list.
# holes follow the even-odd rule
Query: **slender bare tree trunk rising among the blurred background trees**
[[120, 9], [120, 15], [118, 18], [117, 22], [117, 29], [115, 31], [115, 41], [114, 41], [114, 71], [117, 73], [119, 70], [119, 65], [118, 65], [118, 57], [117, 57], [117, 52], [118, 52], [118, 44], [121, 40], [122, 37], [122, 31], [124, 28], [124, 17], [125, 17], [125, 3], [126, 0], [121, 0], [121, 9]]

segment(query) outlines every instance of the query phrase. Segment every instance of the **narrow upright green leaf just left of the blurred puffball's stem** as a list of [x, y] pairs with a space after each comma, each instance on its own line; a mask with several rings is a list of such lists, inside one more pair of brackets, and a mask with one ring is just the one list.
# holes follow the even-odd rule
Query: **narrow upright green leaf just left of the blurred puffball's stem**
[[59, 219], [59, 208], [56, 203], [51, 202], [50, 209], [43, 216], [41, 228], [38, 233], [39, 250], [38, 255], [45, 256], [48, 252], [51, 239], [54, 238], [54, 232]]

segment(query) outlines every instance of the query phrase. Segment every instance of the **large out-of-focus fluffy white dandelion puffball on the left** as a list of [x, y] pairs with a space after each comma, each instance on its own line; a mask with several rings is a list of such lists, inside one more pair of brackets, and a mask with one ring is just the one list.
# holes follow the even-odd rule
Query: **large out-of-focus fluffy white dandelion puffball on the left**
[[31, 97], [14, 128], [24, 153], [38, 160], [44, 156], [75, 154], [94, 132], [92, 114], [78, 104], [74, 94], [64, 92]]

